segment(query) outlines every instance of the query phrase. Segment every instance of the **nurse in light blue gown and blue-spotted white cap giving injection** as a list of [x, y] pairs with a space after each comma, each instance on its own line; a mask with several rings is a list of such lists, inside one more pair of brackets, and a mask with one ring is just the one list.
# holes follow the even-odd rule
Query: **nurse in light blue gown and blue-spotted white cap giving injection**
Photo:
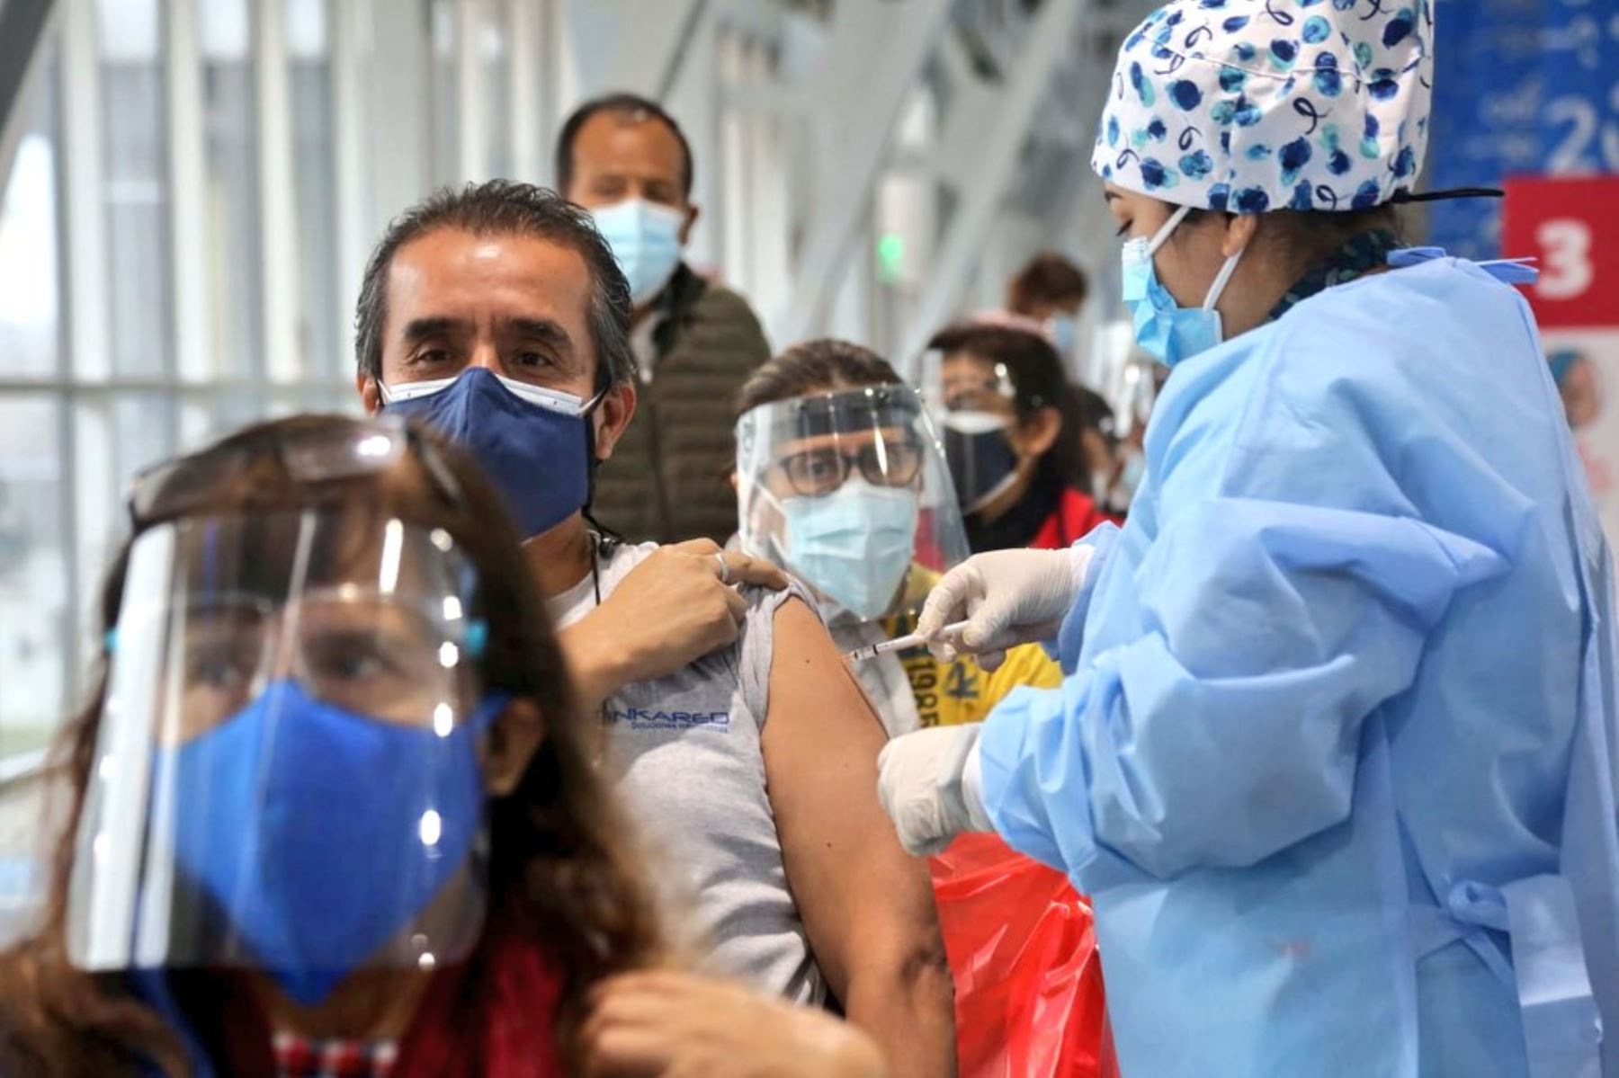
[[1141, 489], [923, 615], [1062, 654], [882, 788], [913, 850], [989, 822], [1093, 897], [1127, 1075], [1619, 1076], [1609, 550], [1533, 272], [1389, 231], [1439, 6], [1128, 36], [1093, 163], [1171, 367]]

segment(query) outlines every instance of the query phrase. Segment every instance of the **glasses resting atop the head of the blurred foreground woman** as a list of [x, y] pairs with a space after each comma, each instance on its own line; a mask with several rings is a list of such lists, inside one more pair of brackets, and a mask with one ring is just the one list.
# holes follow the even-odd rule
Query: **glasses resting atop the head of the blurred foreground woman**
[[413, 453], [450, 505], [466, 499], [439, 452], [402, 416], [343, 419], [308, 427], [270, 427], [222, 445], [165, 460], [138, 473], [130, 486], [130, 528], [146, 528], [210, 508], [222, 486], [244, 481], [249, 465], [277, 456], [298, 482], [374, 476]]

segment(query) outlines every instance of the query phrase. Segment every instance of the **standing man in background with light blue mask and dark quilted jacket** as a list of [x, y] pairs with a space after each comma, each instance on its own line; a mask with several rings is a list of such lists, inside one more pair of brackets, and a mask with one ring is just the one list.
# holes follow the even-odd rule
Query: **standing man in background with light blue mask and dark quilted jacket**
[[557, 139], [557, 188], [591, 210], [630, 282], [641, 419], [596, 487], [596, 516], [631, 541], [716, 542], [737, 531], [732, 403], [771, 358], [748, 303], [682, 259], [698, 207], [691, 147], [656, 102], [580, 105]]

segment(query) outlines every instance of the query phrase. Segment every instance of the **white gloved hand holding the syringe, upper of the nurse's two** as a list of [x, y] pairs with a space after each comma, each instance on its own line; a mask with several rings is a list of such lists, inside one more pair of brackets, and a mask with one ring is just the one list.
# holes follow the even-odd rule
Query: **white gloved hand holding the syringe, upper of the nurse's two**
[[[978, 665], [994, 670], [1005, 649], [1056, 639], [1069, 613], [1094, 549], [1080, 544], [1065, 550], [991, 550], [978, 554], [944, 575], [916, 622], [933, 654], [952, 662], [958, 652], [978, 656]], [[957, 622], [968, 625], [949, 641], [939, 631]]]

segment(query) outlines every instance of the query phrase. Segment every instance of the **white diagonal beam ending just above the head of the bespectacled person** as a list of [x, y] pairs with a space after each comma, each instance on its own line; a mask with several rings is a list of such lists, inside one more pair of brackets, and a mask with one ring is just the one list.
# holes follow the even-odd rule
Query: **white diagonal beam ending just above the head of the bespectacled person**
[[[887, 13], [892, 23], [881, 32], [863, 34], [866, 49], [826, 50], [837, 66], [827, 71], [824, 84], [845, 94], [858, 86], [861, 102], [858, 110], [839, 108], [829, 113], [847, 126], [842, 128], [842, 138], [834, 141], [832, 152], [822, 159], [824, 181], [818, 185], [816, 202], [803, 230], [808, 248], [793, 274], [790, 298], [769, 319], [774, 342], [803, 340], [824, 322], [887, 157], [894, 123], [947, 24], [949, 3], [905, 0], [860, 6], [848, 13], [839, 8], [834, 18], [858, 18], [866, 13]], [[865, 81], [868, 73], [873, 74], [869, 83]]]

